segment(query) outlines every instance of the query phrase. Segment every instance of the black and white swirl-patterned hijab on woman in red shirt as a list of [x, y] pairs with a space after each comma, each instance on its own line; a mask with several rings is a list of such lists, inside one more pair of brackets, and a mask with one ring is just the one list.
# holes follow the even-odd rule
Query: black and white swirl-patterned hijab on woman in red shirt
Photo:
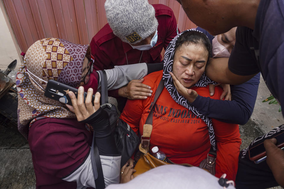
[[[172, 76], [170, 75], [170, 72], [172, 72], [172, 65], [174, 61], [174, 54], [175, 54], [175, 45], [178, 41], [178, 38], [180, 35], [182, 35], [185, 32], [188, 31], [196, 31], [196, 32], [201, 32], [198, 30], [185, 30], [175, 36], [175, 38], [170, 42], [168, 45], [165, 55], [164, 55], [164, 70], [163, 70], [163, 80], [165, 87], [167, 88], [168, 92], [170, 93], [171, 97], [175, 102], [178, 104], [182, 105], [183, 107], [191, 110], [196, 116], [201, 118], [208, 126], [208, 131], [209, 131], [209, 137], [210, 137], [210, 143], [211, 146], [213, 147], [214, 150], [216, 150], [216, 144], [215, 144], [215, 135], [214, 135], [214, 130], [212, 126], [212, 120], [211, 118], [208, 118], [198, 112], [194, 106], [192, 106], [182, 95], [180, 95], [175, 88], [174, 84], [172, 83]], [[202, 33], [202, 32], [201, 32]], [[208, 84], [217, 84], [216, 82], [212, 81], [209, 79], [206, 75], [205, 72], [202, 74], [200, 77], [199, 81], [194, 84], [196, 87], [206, 87]]]

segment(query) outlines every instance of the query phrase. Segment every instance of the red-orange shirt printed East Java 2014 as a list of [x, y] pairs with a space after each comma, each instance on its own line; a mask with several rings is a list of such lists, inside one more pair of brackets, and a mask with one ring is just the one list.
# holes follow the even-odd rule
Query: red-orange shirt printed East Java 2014
[[[136, 134], [142, 135], [143, 125], [149, 114], [151, 102], [162, 79], [162, 71], [149, 74], [144, 84], [151, 86], [153, 93], [145, 100], [128, 100], [120, 116]], [[204, 97], [219, 99], [220, 87], [209, 95], [209, 87], [192, 87]], [[227, 179], [235, 180], [240, 152], [240, 133], [238, 125], [212, 119], [217, 144], [216, 177], [227, 174]], [[210, 150], [210, 140], [206, 123], [194, 113], [176, 103], [164, 87], [156, 101], [153, 111], [153, 130], [150, 149], [158, 146], [174, 163], [188, 163], [199, 166]]]

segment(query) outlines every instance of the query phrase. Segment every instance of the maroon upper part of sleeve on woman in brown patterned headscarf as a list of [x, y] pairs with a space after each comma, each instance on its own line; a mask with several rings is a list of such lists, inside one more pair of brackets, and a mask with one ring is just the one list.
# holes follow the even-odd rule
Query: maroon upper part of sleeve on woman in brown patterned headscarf
[[58, 178], [76, 170], [90, 151], [92, 135], [84, 125], [75, 119], [35, 121], [29, 131], [34, 168]]

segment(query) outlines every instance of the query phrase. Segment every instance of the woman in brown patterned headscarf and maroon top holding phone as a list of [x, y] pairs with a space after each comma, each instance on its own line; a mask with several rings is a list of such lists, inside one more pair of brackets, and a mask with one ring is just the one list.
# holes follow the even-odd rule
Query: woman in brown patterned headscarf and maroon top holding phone
[[[44, 96], [49, 79], [71, 87], [87, 84], [91, 67], [88, 45], [57, 38], [36, 41], [25, 55], [16, 78], [18, 129], [29, 141], [37, 188], [96, 188], [90, 172], [93, 130], [105, 183], [119, 182], [121, 156], [115, 146], [108, 115], [99, 108], [99, 93], [96, 93], [91, 113], [83, 116], [80, 111], [72, 113], [62, 103]], [[79, 87], [78, 104], [83, 91], [83, 87]], [[72, 92], [68, 94], [72, 103], [77, 102]], [[92, 89], [88, 91], [88, 95], [91, 94]], [[83, 103], [85, 110], [86, 107], [88, 110]]]

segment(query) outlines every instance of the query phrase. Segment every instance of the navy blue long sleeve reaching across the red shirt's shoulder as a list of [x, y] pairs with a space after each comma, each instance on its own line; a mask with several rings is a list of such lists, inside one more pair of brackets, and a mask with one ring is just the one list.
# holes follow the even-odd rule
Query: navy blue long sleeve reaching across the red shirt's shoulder
[[231, 85], [232, 101], [198, 96], [191, 105], [210, 118], [244, 125], [254, 110], [260, 73], [241, 85]]

